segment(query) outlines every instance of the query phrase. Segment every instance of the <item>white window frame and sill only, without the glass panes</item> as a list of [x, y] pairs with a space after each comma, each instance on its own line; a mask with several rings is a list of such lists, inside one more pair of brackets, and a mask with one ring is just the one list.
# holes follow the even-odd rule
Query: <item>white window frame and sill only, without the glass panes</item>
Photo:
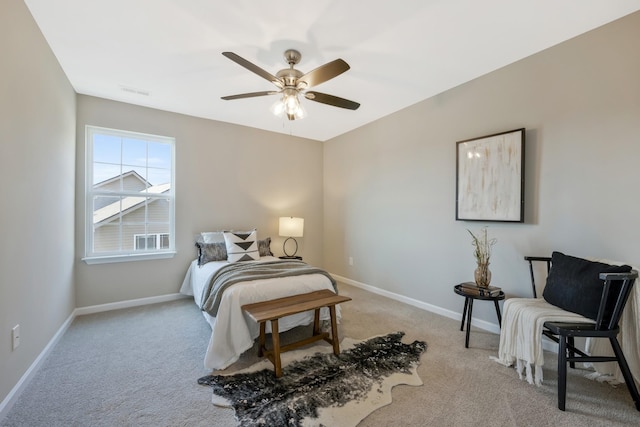
[[[94, 224], [93, 224], [93, 200], [95, 196], [109, 196], [109, 197], [135, 197], [139, 196], [139, 192], [132, 191], [117, 191], [110, 190], [109, 192], [103, 192], [94, 189], [93, 171], [94, 171], [94, 159], [93, 159], [93, 138], [94, 135], [110, 135], [120, 138], [133, 138], [137, 140], [145, 140], [149, 142], [159, 142], [170, 145], [171, 147], [171, 185], [170, 190], [161, 194], [148, 194], [147, 200], [150, 199], [165, 199], [169, 201], [169, 247], [164, 249], [148, 249], [148, 250], [136, 250], [135, 241], [133, 249], [122, 249], [109, 252], [94, 252]], [[175, 138], [159, 135], [150, 135], [138, 132], [130, 132], [119, 129], [109, 129], [98, 126], [85, 126], [85, 256], [82, 258], [87, 264], [103, 264], [111, 262], [124, 262], [124, 261], [141, 261], [148, 259], [162, 259], [171, 258], [176, 254], [175, 245]], [[147, 218], [144, 221], [145, 226], [148, 226]], [[148, 233], [147, 235], [160, 235], [167, 233]], [[122, 236], [120, 237], [122, 239]], [[159, 238], [156, 237], [156, 241]], [[122, 247], [122, 245], [121, 245]]]

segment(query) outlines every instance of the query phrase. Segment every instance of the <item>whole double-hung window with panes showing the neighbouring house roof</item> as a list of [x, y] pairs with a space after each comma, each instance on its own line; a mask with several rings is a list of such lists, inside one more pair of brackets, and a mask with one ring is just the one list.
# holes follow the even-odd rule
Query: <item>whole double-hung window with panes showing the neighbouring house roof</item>
[[87, 263], [175, 253], [175, 139], [87, 126]]

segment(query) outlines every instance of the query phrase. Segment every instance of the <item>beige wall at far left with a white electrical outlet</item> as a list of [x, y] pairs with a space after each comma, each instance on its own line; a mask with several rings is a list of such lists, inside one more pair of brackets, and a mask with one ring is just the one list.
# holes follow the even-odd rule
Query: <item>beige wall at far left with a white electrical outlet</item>
[[2, 402], [75, 307], [75, 93], [24, 2], [0, 9]]

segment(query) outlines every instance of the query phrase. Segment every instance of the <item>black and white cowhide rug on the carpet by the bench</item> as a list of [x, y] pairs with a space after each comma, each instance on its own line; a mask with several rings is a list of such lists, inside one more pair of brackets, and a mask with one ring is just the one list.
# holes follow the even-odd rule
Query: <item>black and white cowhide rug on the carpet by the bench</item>
[[391, 403], [398, 384], [422, 385], [416, 373], [427, 344], [404, 344], [404, 332], [282, 354], [283, 375], [268, 361], [232, 375], [208, 375], [213, 403], [235, 410], [242, 426], [355, 426]]

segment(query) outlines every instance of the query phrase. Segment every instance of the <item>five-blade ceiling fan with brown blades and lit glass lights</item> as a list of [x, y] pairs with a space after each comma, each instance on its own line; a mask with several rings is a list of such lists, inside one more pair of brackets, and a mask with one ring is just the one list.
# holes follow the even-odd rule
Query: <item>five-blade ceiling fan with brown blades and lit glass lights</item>
[[271, 107], [271, 110], [276, 115], [286, 115], [289, 120], [301, 119], [304, 117], [305, 112], [300, 104], [298, 95], [304, 96], [312, 101], [334, 107], [346, 108], [348, 110], [357, 110], [358, 107], [360, 107], [360, 104], [348, 99], [307, 90], [312, 86], [324, 83], [327, 80], [337, 77], [347, 71], [350, 68], [349, 64], [344, 62], [342, 59], [336, 59], [328, 62], [315, 70], [303, 74], [301, 71], [293, 68], [294, 65], [300, 62], [302, 55], [297, 50], [288, 49], [284, 52], [284, 58], [289, 64], [289, 68], [278, 71], [274, 76], [268, 71], [263, 70], [233, 52], [222, 52], [222, 54], [247, 70], [259, 75], [263, 79], [269, 80], [278, 88], [278, 90], [223, 96], [222, 99], [224, 100], [282, 94], [282, 98], [280, 98]]

